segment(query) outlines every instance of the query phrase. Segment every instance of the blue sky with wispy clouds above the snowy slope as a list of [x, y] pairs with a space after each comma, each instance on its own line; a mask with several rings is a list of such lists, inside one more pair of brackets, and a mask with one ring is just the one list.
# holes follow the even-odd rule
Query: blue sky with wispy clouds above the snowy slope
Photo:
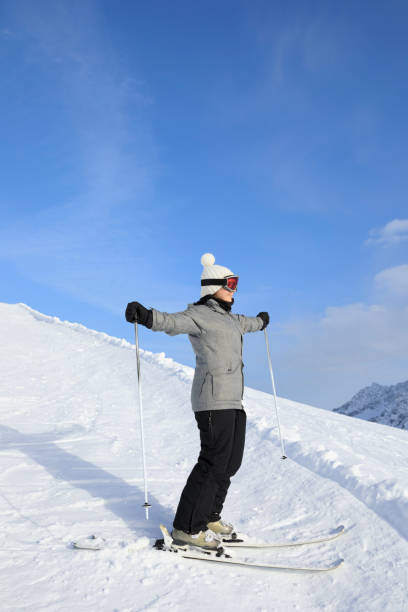
[[[132, 339], [200, 257], [278, 393], [408, 378], [405, 2], [3, 1], [0, 300]], [[142, 346], [194, 365], [185, 337]], [[262, 334], [246, 383], [270, 390]]]

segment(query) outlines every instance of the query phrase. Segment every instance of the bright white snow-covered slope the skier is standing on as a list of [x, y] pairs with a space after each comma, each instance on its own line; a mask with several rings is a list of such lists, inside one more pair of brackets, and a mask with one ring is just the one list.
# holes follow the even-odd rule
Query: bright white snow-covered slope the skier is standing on
[[[175, 561], [151, 545], [198, 452], [191, 368], [142, 355], [147, 522], [134, 347], [24, 305], [0, 304], [0, 337], [2, 611], [407, 609], [406, 431], [280, 399], [281, 461], [271, 396], [246, 389], [247, 446], [224, 517], [265, 539], [342, 522], [347, 533], [244, 556], [346, 563], [316, 576]], [[70, 548], [91, 532], [112, 548]]]

